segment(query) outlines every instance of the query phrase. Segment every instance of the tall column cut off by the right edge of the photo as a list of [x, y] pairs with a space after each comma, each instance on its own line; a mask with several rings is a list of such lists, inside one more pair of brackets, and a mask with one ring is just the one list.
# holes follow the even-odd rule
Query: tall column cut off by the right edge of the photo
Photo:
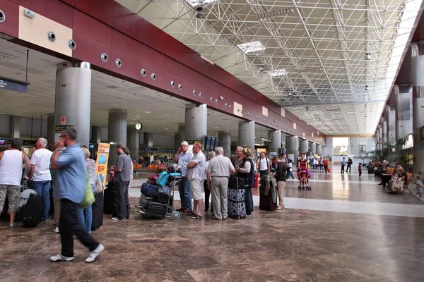
[[413, 85], [413, 172], [424, 173], [424, 142], [420, 140], [420, 128], [424, 126], [424, 41], [411, 44]]

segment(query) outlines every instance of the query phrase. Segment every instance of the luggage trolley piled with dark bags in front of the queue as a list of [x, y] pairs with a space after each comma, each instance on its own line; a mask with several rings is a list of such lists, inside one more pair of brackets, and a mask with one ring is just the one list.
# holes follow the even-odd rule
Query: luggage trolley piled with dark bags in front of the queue
[[147, 216], [162, 216], [179, 219], [179, 212], [172, 207], [174, 188], [179, 186], [181, 173], [170, 173], [167, 185], [159, 186], [148, 184], [148, 188], [141, 189], [139, 204], [136, 204], [137, 213], [143, 219]]

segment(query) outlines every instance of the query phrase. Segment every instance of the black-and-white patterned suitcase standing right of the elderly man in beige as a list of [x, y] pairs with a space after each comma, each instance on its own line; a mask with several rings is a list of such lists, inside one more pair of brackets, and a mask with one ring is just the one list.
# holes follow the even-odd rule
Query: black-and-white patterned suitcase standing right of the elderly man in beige
[[[234, 219], [244, 219], [246, 217], [246, 189], [240, 187], [239, 178], [232, 178], [234, 185], [228, 185], [228, 216]], [[243, 181], [244, 183], [244, 181]]]

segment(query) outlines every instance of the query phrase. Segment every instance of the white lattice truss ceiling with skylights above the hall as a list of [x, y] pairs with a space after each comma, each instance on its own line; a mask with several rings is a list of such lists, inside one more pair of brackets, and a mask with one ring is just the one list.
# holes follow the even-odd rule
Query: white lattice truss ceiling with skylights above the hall
[[[374, 133], [422, 6], [422, 0], [115, 1], [331, 135]], [[204, 20], [196, 18], [198, 6]], [[251, 42], [264, 49], [237, 47]], [[278, 70], [286, 74], [270, 75]]]

